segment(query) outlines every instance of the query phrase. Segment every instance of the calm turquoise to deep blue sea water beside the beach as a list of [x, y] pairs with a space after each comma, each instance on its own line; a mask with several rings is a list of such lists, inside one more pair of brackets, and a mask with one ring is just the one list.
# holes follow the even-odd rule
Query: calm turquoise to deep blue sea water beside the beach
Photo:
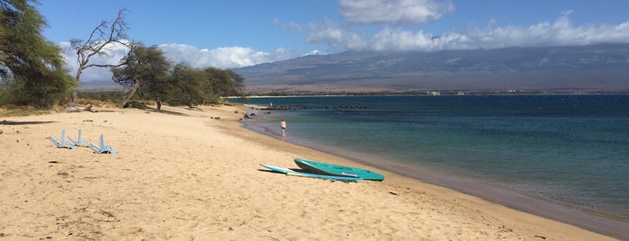
[[[251, 129], [629, 218], [629, 95], [253, 98]], [[298, 157], [298, 156], [296, 156]], [[323, 161], [323, 160], [321, 160]]]

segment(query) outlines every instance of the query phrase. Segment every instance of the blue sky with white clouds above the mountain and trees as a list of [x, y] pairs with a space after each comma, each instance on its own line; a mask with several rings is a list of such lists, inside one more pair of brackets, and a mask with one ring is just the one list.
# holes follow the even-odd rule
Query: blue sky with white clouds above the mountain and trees
[[[629, 42], [626, 0], [39, 0], [44, 36], [76, 74], [72, 39], [121, 9], [130, 40], [192, 67], [247, 67], [346, 50], [496, 49]], [[121, 46], [94, 62], [115, 64]], [[107, 69], [84, 81], [111, 79]]]

